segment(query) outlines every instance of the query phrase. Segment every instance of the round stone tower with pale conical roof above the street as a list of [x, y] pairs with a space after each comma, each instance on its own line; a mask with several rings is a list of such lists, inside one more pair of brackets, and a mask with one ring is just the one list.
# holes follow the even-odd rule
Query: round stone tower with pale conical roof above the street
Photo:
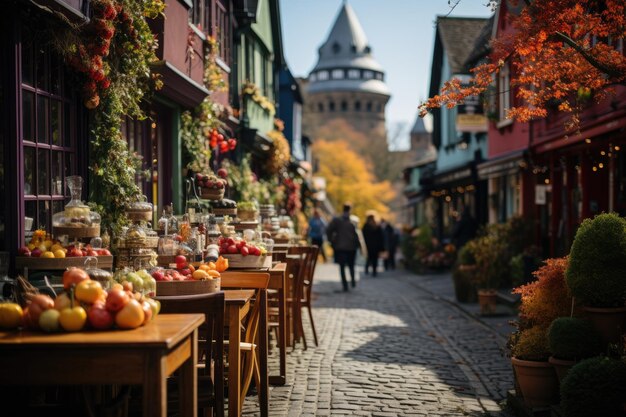
[[347, 2], [318, 53], [315, 68], [302, 83], [306, 134], [315, 140], [320, 126], [342, 119], [368, 140], [386, 143], [385, 73]]

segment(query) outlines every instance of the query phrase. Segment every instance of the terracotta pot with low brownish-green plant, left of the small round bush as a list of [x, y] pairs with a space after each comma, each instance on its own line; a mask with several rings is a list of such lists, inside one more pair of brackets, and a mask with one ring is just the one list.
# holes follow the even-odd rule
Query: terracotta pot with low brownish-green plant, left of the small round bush
[[545, 407], [558, 396], [558, 379], [548, 362], [550, 346], [548, 331], [543, 326], [521, 330], [511, 346], [511, 363], [524, 403], [529, 407]]

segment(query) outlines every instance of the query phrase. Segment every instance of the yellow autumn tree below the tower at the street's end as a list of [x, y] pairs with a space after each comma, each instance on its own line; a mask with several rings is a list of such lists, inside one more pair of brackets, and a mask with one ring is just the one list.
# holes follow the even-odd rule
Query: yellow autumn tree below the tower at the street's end
[[318, 161], [315, 175], [326, 179], [326, 194], [337, 211], [345, 201], [352, 202], [353, 213], [365, 220], [366, 212], [377, 211], [389, 218], [389, 203], [395, 195], [389, 181], [376, 181], [367, 163], [345, 141], [318, 140], [313, 145]]

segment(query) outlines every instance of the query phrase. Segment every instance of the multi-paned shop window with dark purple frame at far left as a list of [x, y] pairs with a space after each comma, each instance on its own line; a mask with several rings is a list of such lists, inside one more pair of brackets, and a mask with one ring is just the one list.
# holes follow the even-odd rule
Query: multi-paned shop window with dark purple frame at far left
[[76, 99], [61, 59], [26, 27], [21, 47], [24, 216], [33, 219], [32, 230], [50, 231], [52, 214], [65, 205], [65, 178], [76, 175]]

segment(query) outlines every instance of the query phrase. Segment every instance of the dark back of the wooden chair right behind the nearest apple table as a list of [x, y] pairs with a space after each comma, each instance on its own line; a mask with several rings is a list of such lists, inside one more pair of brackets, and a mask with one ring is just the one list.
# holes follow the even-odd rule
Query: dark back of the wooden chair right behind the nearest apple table
[[210, 376], [214, 363], [215, 415], [224, 415], [224, 293], [174, 295], [155, 297], [161, 303], [161, 314], [204, 314], [202, 337], [198, 341], [198, 358], [204, 353], [204, 366], [198, 368], [203, 376]]

